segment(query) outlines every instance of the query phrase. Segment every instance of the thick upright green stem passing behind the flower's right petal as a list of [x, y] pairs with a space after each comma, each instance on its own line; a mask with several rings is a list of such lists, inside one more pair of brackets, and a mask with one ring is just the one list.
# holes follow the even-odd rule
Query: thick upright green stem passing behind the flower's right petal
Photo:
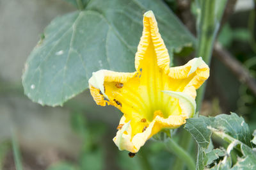
[[[197, 26], [198, 47], [196, 50], [196, 56], [201, 56], [205, 63], [210, 65], [214, 41], [220, 27], [220, 20], [227, 0], [198, 0], [197, 3], [200, 14]], [[196, 111], [200, 110], [202, 100], [204, 98], [205, 84], [198, 89], [196, 97]]]

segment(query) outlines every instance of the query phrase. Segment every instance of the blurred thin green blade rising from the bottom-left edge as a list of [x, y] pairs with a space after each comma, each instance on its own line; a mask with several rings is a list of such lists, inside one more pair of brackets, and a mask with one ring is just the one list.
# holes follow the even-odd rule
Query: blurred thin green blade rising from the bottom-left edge
[[21, 162], [21, 158], [20, 158], [19, 144], [17, 143], [15, 132], [12, 132], [12, 148], [13, 148], [15, 167], [17, 170], [22, 170], [22, 162]]

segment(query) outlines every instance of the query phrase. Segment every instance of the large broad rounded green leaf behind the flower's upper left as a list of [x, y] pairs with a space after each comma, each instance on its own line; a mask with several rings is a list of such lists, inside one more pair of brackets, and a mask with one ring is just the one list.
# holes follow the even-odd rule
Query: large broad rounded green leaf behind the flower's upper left
[[191, 47], [193, 36], [158, 0], [94, 0], [82, 12], [52, 20], [26, 62], [25, 94], [42, 105], [62, 105], [88, 88], [100, 69], [134, 71], [143, 13], [153, 10], [171, 58]]

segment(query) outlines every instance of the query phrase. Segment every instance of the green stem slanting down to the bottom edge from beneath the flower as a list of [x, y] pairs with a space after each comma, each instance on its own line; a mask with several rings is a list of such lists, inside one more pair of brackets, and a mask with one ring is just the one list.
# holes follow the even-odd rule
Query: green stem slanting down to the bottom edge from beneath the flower
[[[177, 144], [175, 141], [173, 141], [172, 138], [170, 138], [169, 141], [166, 142], [166, 146], [167, 146], [168, 150], [172, 151], [173, 154], [175, 154], [177, 157], [179, 157], [180, 160], [182, 160], [182, 162], [184, 162], [186, 164], [188, 169], [190, 169], [190, 170], [196, 169], [195, 161], [193, 160], [191, 155], [189, 155], [189, 153], [186, 150], [181, 148], [179, 146], [179, 144]], [[179, 163], [182, 164], [182, 162], [179, 162]]]

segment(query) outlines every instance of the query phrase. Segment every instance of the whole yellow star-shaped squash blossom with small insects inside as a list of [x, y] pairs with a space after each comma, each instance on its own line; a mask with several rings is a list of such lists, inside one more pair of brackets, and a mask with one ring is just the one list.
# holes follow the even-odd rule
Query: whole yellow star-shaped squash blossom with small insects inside
[[90, 92], [98, 105], [124, 113], [113, 141], [119, 150], [138, 152], [163, 128], [178, 128], [195, 114], [196, 89], [209, 77], [202, 58], [169, 68], [170, 57], [152, 11], [144, 14], [135, 55], [136, 72], [93, 72]]

